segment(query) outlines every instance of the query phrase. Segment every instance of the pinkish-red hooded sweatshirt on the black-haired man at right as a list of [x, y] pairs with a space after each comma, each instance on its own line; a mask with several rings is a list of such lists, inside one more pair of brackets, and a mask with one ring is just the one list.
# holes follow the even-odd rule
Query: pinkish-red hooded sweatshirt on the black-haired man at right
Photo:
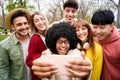
[[104, 41], [99, 41], [103, 47], [104, 60], [101, 80], [120, 80], [120, 33], [113, 27], [112, 34]]

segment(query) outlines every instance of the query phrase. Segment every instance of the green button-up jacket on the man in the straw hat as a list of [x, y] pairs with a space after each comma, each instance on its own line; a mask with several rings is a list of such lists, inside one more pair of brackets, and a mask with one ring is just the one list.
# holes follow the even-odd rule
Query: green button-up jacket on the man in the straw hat
[[15, 34], [0, 42], [0, 80], [27, 80], [22, 44]]

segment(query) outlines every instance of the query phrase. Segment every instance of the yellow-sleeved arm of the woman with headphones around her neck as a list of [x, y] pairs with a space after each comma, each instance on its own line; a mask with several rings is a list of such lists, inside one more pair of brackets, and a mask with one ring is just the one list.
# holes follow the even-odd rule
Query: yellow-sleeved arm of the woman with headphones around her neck
[[95, 56], [92, 64], [93, 70], [91, 74], [91, 80], [100, 80], [103, 65], [103, 50], [102, 47], [99, 45], [96, 45]]

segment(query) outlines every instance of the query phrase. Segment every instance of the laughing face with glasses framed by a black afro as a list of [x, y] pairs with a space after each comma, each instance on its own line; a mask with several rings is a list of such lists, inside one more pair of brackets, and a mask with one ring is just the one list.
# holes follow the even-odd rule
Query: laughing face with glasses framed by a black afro
[[56, 42], [56, 50], [60, 55], [66, 55], [70, 48], [70, 42], [67, 38], [60, 37]]

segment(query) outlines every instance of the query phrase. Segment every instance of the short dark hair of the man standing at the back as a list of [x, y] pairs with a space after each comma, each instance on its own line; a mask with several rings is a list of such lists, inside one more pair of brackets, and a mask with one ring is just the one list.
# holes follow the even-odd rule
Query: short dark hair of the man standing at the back
[[75, 8], [77, 10], [78, 3], [75, 0], [67, 0], [63, 5], [63, 9], [65, 9], [66, 7], [72, 7], [72, 8]]

